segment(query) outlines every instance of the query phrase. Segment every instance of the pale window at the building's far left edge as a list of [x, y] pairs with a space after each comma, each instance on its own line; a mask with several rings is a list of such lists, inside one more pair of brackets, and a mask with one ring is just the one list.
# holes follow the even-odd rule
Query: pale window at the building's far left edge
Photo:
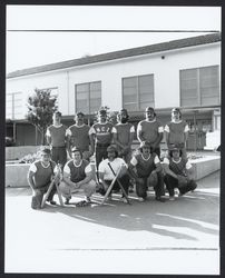
[[23, 118], [22, 92], [7, 93], [6, 102], [7, 119], [13, 120]]

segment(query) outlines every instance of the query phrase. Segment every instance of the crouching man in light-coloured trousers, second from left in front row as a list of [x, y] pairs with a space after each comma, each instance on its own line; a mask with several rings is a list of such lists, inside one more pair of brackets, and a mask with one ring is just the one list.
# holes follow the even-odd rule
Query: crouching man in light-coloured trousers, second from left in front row
[[65, 205], [69, 205], [72, 193], [85, 192], [85, 200], [80, 205], [86, 206], [91, 202], [90, 197], [96, 191], [92, 169], [89, 161], [82, 159], [80, 149], [74, 147], [71, 157], [72, 159], [63, 167], [63, 180], [59, 185], [59, 190], [66, 198]]

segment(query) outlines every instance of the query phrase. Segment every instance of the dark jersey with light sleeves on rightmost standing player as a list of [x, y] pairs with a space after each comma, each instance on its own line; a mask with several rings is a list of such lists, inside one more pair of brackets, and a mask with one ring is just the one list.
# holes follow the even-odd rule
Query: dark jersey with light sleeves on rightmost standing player
[[188, 130], [186, 121], [170, 121], [165, 126], [165, 131], [168, 132], [168, 143], [184, 143], [185, 132], [188, 132]]

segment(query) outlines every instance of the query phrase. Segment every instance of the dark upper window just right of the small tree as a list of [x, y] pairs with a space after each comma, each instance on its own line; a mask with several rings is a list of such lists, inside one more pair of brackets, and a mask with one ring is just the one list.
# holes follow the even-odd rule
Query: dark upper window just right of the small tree
[[75, 86], [76, 111], [95, 113], [101, 106], [101, 82], [80, 83]]

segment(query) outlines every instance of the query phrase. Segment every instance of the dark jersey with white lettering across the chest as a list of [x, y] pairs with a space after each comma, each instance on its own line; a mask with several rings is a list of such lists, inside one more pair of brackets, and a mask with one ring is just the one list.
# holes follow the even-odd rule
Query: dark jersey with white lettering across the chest
[[89, 135], [96, 135], [96, 143], [109, 145], [111, 142], [113, 127], [110, 122], [97, 122], [90, 128]]

